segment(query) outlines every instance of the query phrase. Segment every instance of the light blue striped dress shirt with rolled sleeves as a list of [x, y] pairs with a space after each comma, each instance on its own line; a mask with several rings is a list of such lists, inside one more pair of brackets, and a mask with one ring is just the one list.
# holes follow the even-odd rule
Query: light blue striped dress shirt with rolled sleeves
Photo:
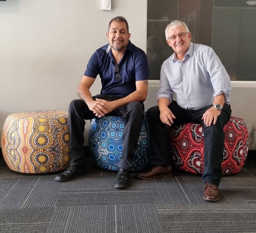
[[183, 61], [177, 60], [175, 53], [164, 61], [157, 100], [165, 97], [172, 101], [176, 93], [180, 107], [201, 109], [212, 105], [213, 98], [223, 93], [229, 104], [230, 92], [230, 78], [213, 49], [190, 42]]

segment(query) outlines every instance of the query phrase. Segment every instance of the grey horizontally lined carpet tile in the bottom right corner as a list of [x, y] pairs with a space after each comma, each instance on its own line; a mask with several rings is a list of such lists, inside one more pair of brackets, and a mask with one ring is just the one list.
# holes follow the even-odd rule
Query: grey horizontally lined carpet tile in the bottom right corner
[[163, 232], [255, 232], [256, 209], [241, 205], [156, 205]]

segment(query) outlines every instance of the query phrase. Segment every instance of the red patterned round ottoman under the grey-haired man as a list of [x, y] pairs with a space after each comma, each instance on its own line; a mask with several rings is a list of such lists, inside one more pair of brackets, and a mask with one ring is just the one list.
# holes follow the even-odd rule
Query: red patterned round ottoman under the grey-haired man
[[[202, 174], [204, 171], [203, 126], [195, 123], [169, 127], [172, 163], [179, 169]], [[249, 137], [244, 120], [231, 116], [224, 127], [225, 148], [221, 164], [222, 174], [239, 172], [246, 160]]]

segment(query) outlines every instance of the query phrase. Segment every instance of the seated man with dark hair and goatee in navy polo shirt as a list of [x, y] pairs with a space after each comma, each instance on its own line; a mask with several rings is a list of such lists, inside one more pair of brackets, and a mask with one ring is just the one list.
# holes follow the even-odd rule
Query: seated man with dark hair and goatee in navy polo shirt
[[[145, 52], [131, 43], [124, 17], [110, 20], [106, 36], [108, 44], [97, 49], [87, 64], [77, 90], [80, 99], [69, 105], [70, 166], [55, 179], [67, 181], [84, 170], [84, 120], [114, 115], [125, 121], [123, 154], [114, 186], [125, 188], [131, 184], [130, 171], [144, 118], [148, 62]], [[89, 89], [97, 75], [102, 87], [100, 94], [92, 96]]]

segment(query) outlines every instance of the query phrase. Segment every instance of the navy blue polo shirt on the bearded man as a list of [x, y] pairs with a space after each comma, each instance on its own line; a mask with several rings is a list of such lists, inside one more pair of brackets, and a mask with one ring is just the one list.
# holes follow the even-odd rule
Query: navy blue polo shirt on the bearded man
[[148, 80], [148, 61], [145, 52], [129, 41], [124, 56], [117, 64], [121, 81], [116, 80], [117, 72], [109, 44], [97, 49], [91, 56], [85, 76], [96, 78], [100, 75], [102, 88], [100, 94], [125, 97], [136, 90], [136, 81]]

